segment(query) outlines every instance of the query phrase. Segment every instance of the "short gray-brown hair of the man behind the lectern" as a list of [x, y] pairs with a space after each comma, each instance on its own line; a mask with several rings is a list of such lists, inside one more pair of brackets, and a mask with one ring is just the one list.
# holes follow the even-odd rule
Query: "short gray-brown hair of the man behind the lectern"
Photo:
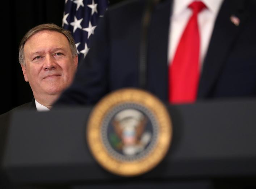
[[43, 30], [50, 30], [50, 31], [56, 31], [60, 34], [63, 34], [66, 36], [68, 43], [70, 45], [70, 50], [72, 53], [73, 58], [77, 56], [77, 50], [76, 50], [76, 44], [73, 36], [71, 35], [71, 32], [68, 30], [65, 30], [54, 23], [47, 23], [47, 24], [41, 24], [38, 26], [33, 27], [31, 30], [29, 30], [25, 36], [22, 38], [19, 46], [19, 62], [21, 65], [25, 66], [25, 56], [24, 56], [24, 45], [26, 41], [31, 38], [33, 35], [37, 34], [39, 31]]

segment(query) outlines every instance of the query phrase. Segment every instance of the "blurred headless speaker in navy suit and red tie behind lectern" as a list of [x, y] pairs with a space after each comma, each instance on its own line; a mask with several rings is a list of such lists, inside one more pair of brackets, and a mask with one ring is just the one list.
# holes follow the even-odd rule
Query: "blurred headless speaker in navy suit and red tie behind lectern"
[[[57, 104], [95, 104], [123, 87], [140, 88], [145, 0], [106, 11], [94, 43]], [[147, 91], [164, 102], [256, 96], [253, 0], [163, 0], [147, 36]]]

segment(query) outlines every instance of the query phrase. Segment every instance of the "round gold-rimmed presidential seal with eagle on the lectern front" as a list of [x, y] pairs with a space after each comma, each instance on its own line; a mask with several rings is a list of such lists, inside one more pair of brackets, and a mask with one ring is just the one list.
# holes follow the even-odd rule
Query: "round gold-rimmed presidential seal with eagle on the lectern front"
[[168, 111], [158, 98], [140, 89], [120, 89], [104, 97], [87, 124], [87, 141], [96, 161], [121, 176], [154, 168], [172, 138]]

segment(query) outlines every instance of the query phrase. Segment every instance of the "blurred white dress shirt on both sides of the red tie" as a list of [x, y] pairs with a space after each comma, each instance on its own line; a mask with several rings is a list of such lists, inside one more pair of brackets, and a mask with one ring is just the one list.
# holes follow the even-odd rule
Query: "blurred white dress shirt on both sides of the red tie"
[[[171, 63], [179, 44], [181, 35], [192, 16], [192, 10], [188, 6], [194, 0], [174, 0], [173, 12], [170, 18], [168, 63]], [[205, 58], [215, 19], [223, 0], [201, 0], [207, 8], [198, 13], [198, 27], [200, 32], [200, 66]]]

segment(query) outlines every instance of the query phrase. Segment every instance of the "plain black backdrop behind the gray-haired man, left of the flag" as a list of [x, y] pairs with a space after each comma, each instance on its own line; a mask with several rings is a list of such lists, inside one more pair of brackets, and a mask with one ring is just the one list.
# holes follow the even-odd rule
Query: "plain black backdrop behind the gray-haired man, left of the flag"
[[[109, 6], [120, 1], [110, 0]], [[42, 23], [52, 22], [61, 27], [64, 0], [12, 0], [1, 4], [0, 114], [3, 114], [33, 98], [18, 62], [18, 46], [22, 37]]]

